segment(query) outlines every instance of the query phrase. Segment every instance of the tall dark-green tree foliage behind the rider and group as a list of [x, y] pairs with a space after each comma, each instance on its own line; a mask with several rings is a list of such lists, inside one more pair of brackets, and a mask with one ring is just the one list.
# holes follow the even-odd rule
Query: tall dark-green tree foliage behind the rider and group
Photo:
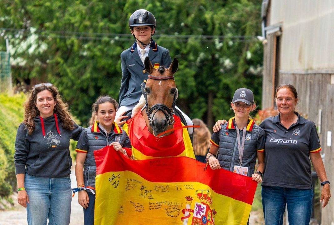
[[3, 0], [0, 50], [9, 38], [14, 81], [54, 83], [86, 124], [100, 94], [118, 96], [120, 53], [134, 42], [128, 18], [139, 8], [155, 15], [153, 38], [179, 59], [177, 105], [190, 118], [209, 127], [229, 118], [243, 86], [261, 103], [260, 0]]

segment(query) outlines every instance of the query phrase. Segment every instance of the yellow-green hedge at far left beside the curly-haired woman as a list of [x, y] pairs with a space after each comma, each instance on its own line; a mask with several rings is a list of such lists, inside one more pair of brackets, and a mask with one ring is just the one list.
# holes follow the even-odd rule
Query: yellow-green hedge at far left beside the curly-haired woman
[[14, 144], [16, 131], [23, 121], [26, 96], [0, 94], [0, 197], [7, 197], [16, 187]]

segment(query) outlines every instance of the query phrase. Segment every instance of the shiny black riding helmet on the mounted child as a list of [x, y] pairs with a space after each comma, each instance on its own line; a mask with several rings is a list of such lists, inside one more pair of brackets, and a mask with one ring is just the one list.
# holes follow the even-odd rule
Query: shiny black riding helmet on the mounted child
[[136, 26], [151, 26], [156, 28], [157, 21], [151, 12], [147, 11], [146, 9], [138, 9], [132, 13], [129, 18], [129, 27], [133, 29], [133, 27]]

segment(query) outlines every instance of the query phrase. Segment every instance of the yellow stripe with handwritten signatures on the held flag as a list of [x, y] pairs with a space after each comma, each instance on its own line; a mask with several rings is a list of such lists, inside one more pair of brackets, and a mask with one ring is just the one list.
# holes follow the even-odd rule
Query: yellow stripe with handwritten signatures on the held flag
[[[95, 224], [202, 225], [199, 222], [203, 215], [207, 219], [212, 215], [214, 224], [247, 224], [251, 205], [210, 190], [209, 195], [214, 199], [211, 208], [219, 212], [213, 215], [207, 207], [210, 203], [205, 198], [199, 199], [195, 190], [207, 193], [210, 187], [198, 182], [148, 182], [130, 171], [100, 174], [96, 177], [96, 196], [101, 198], [95, 202]], [[193, 200], [187, 201], [187, 196]], [[182, 210], [186, 208], [194, 213], [183, 223]]]

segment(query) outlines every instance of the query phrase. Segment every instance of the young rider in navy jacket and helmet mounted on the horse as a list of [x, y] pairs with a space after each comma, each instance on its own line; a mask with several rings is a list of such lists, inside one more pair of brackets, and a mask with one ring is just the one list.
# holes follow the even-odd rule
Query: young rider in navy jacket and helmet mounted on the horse
[[[136, 42], [121, 53], [122, 80], [119, 92], [120, 106], [116, 113], [116, 120], [126, 118], [122, 115], [131, 110], [142, 95], [140, 85], [148, 77], [144, 59], [149, 57], [154, 68], [159, 66], [168, 68], [172, 62], [168, 49], [159, 46], [152, 39], [156, 29], [156, 20], [151, 12], [145, 9], [135, 11], [129, 18], [129, 27]], [[185, 118], [187, 125], [192, 125], [189, 117], [180, 109], [178, 110]], [[188, 132], [191, 135], [193, 128], [188, 129]]]

